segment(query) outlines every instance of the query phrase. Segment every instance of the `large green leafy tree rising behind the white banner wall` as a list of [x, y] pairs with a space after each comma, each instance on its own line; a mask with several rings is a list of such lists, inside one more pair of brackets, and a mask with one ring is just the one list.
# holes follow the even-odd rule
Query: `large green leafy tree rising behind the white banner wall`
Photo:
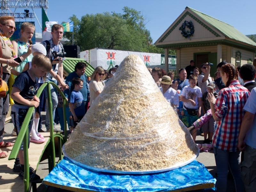
[[[124, 14], [86, 14], [81, 20], [72, 15], [69, 19], [74, 22], [74, 44], [81, 51], [98, 47], [164, 54], [164, 49], [152, 45], [153, 40], [145, 28], [146, 21], [141, 12], [129, 7], [124, 7], [123, 11]], [[71, 45], [72, 32], [65, 32], [64, 37], [70, 40], [66, 44]]]

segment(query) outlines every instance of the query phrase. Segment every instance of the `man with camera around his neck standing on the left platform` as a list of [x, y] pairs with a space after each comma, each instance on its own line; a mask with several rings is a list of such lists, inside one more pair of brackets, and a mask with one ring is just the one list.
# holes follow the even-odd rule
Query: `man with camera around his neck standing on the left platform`
[[[65, 57], [66, 52], [64, 52], [63, 45], [60, 43], [60, 40], [62, 39], [63, 36], [63, 26], [60, 24], [54, 24], [52, 26], [52, 39], [48, 41], [43, 41], [41, 44], [44, 45], [46, 48], [46, 56], [52, 61], [52, 70], [55, 73], [58, 73], [60, 78], [63, 81], [63, 65], [62, 65], [62, 57]], [[45, 82], [52, 81], [55, 84], [57, 84], [57, 80], [52, 77], [50, 73], [46, 74], [46, 80]], [[59, 85], [60, 86], [60, 85]], [[52, 85], [51, 87], [51, 97], [52, 97], [52, 116], [53, 116], [53, 125], [54, 123], [54, 118], [55, 118], [55, 109], [58, 106], [58, 93], [57, 90], [53, 88]], [[64, 89], [66, 87], [62, 87]], [[50, 121], [49, 121], [49, 108], [48, 108], [48, 102], [46, 102], [46, 120], [45, 120], [45, 127], [47, 129], [47, 132], [50, 131]], [[53, 129], [54, 132], [63, 132], [60, 129], [57, 129], [54, 127]]]

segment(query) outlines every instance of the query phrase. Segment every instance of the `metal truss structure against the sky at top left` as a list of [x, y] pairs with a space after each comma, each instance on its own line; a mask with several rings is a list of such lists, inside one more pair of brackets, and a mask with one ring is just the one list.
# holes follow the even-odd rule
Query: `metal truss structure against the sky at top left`
[[[1, 6], [1, 13], [0, 16], [10, 15], [14, 18], [35, 18], [36, 14], [33, 8], [44, 8], [45, 12], [48, 8], [48, 1], [47, 0], [0, 0]], [[12, 13], [10, 8], [15, 8], [14, 12]], [[17, 8], [31, 8], [33, 13], [29, 13], [29, 10], [24, 10], [24, 13], [15, 13]], [[7, 13], [7, 11], [10, 13]], [[37, 18], [36, 18], [37, 19]]]

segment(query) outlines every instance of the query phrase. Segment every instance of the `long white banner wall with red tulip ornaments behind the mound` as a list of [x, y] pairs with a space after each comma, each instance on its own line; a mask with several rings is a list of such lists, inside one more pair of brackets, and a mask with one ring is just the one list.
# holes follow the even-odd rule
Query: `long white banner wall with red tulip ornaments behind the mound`
[[161, 65], [161, 54], [147, 52], [132, 52], [95, 48], [92, 50], [80, 52], [80, 58], [85, 59], [94, 68], [101, 66], [108, 70], [112, 67], [115, 67], [115, 65], [119, 66], [124, 58], [131, 54], [138, 55], [146, 66]]

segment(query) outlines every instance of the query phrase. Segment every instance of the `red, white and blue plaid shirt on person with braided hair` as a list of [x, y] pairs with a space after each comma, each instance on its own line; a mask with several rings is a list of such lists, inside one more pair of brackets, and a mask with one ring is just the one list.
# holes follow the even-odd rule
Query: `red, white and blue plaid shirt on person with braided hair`
[[244, 117], [244, 105], [250, 92], [239, 81], [232, 81], [229, 87], [220, 90], [214, 108], [217, 121], [213, 146], [223, 151], [237, 151], [238, 135]]

